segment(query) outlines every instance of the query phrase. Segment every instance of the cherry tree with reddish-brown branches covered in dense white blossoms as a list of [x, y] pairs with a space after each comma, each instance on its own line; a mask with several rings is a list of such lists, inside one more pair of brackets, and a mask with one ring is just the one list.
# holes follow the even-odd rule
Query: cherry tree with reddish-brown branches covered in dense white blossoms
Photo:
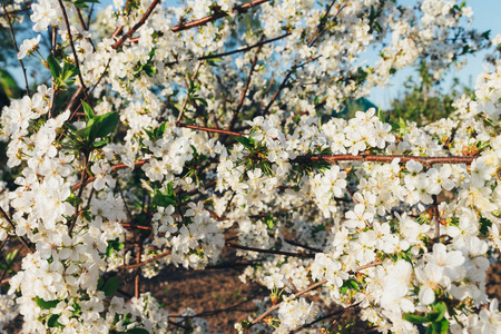
[[[500, 331], [485, 293], [501, 246], [498, 55], [448, 119], [333, 116], [405, 67], [439, 79], [497, 47], [464, 2], [115, 0], [94, 17], [95, 2], [2, 7], [26, 78], [1, 112], [3, 323], [217, 331], [141, 279], [233, 249], [240, 279], [269, 291], [239, 333], [330, 333], [348, 310], [384, 333]], [[35, 89], [28, 57], [50, 71]]]

